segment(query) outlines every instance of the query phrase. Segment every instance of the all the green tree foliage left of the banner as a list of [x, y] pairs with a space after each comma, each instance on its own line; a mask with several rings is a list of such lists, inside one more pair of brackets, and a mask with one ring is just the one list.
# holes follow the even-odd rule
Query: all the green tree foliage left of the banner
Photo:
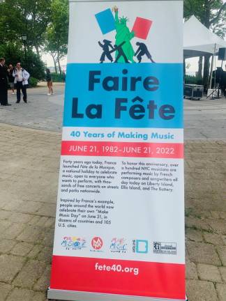
[[[59, 61], [67, 54], [68, 46], [68, 0], [0, 0], [0, 12], [0, 54], [13, 63], [22, 61], [33, 77], [39, 79], [43, 77], [43, 63], [33, 50], [39, 58], [40, 51], [45, 49], [52, 55], [56, 70], [58, 63], [61, 72]], [[27, 66], [23, 43], [27, 48]]]

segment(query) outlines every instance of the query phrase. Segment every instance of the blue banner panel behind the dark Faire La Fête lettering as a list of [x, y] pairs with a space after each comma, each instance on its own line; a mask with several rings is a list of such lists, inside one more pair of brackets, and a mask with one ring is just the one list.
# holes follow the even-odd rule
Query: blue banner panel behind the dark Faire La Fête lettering
[[[122, 70], [128, 70], [123, 75]], [[89, 72], [100, 71], [100, 83], [94, 84], [94, 91], [89, 91]], [[106, 91], [102, 82], [105, 77], [156, 77], [159, 86], [156, 91], [147, 91], [142, 82], [137, 82], [136, 91]], [[110, 82], [112, 85], [112, 82]], [[130, 86], [128, 84], [128, 86]], [[119, 84], [121, 88], [121, 84]], [[139, 96], [143, 99], [145, 116], [133, 119], [129, 109], [134, 105], [131, 100]], [[73, 98], [78, 99], [77, 113], [84, 114], [84, 118], [72, 117]], [[115, 118], [116, 98], [127, 98], [126, 111], [121, 111], [121, 118]], [[157, 109], [154, 118], [149, 118], [147, 105], [153, 100]], [[102, 118], [88, 118], [86, 107], [95, 104], [102, 105]], [[137, 104], [137, 102], [135, 102]], [[123, 104], [125, 105], [125, 104]], [[175, 109], [174, 118], [164, 120], [160, 117], [159, 109], [162, 105], [171, 105]], [[95, 112], [93, 110], [92, 112]], [[72, 63], [68, 64], [66, 77], [66, 97], [64, 105], [63, 126], [81, 127], [110, 127], [110, 128], [183, 128], [183, 64], [180, 63]]]

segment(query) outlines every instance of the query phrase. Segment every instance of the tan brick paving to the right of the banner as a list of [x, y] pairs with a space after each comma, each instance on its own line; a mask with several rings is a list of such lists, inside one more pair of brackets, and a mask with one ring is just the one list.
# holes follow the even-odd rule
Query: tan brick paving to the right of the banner
[[226, 142], [186, 141], [186, 278], [190, 301], [226, 300]]

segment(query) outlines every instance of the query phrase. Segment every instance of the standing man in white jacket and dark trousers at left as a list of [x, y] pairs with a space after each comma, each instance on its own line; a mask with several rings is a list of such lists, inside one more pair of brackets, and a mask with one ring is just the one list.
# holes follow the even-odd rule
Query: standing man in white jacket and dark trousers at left
[[17, 88], [17, 102], [20, 103], [20, 91], [23, 93], [23, 100], [27, 103], [27, 85], [30, 77], [29, 72], [21, 67], [20, 63], [17, 63], [15, 70], [13, 70], [13, 77], [15, 77], [14, 84]]

